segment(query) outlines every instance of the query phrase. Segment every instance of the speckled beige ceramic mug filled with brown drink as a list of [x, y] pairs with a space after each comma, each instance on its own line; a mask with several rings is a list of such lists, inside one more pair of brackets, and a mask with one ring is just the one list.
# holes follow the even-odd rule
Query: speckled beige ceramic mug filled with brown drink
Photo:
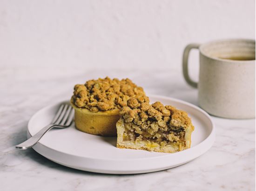
[[[199, 49], [199, 82], [189, 77], [188, 57]], [[183, 76], [198, 88], [198, 104], [211, 115], [224, 118], [255, 118], [255, 40], [229, 39], [187, 45]]]

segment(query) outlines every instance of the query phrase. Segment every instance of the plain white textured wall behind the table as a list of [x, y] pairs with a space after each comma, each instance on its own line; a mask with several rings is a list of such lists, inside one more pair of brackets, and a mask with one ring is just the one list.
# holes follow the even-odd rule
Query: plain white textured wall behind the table
[[0, 0], [2, 69], [181, 70], [219, 38], [255, 39], [255, 0]]

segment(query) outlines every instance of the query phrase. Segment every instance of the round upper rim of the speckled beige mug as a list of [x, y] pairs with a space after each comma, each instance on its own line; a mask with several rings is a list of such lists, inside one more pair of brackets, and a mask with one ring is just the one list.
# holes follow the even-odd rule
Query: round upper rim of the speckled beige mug
[[222, 62], [229, 62], [229, 63], [241, 63], [241, 62], [245, 62], [245, 63], [255, 63], [256, 60], [229, 60], [229, 59], [223, 59], [223, 58], [219, 58], [219, 57], [213, 57], [208, 55], [207, 53], [205, 53], [202, 49], [208, 45], [214, 44], [214, 43], [219, 43], [219, 42], [230, 42], [230, 41], [243, 41], [243, 42], [248, 42], [248, 43], [256, 43], [255, 39], [249, 39], [249, 38], [227, 38], [227, 39], [219, 39], [219, 40], [212, 40], [209, 41], [207, 43], [203, 43], [202, 45], [199, 46], [199, 51], [200, 53], [208, 58], [211, 58], [213, 60], [217, 60], [217, 61], [222, 61]]

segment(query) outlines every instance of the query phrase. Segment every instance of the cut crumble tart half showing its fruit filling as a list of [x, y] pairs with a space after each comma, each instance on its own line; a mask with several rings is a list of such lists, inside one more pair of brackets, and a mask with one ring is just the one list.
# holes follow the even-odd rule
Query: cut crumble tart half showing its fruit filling
[[190, 148], [194, 126], [188, 114], [161, 102], [150, 105], [137, 98], [121, 108], [116, 123], [118, 148], [175, 153]]

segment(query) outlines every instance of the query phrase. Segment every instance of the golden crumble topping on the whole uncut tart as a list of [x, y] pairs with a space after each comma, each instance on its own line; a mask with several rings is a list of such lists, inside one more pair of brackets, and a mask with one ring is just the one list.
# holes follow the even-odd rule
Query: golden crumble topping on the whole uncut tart
[[[137, 99], [129, 100], [135, 96]], [[121, 109], [127, 105], [139, 107], [141, 102], [149, 102], [149, 99], [143, 89], [130, 79], [114, 78], [111, 80], [106, 77], [75, 85], [71, 101], [78, 108], [87, 108], [91, 112], [98, 112]]]

